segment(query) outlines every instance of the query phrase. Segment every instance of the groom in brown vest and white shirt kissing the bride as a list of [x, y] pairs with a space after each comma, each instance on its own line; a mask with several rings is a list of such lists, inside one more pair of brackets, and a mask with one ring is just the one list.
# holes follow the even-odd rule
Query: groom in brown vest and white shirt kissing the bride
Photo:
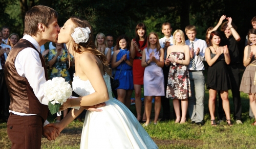
[[[43, 15], [42, 15], [43, 14]], [[48, 101], [42, 85], [47, 71], [40, 46], [57, 41], [58, 13], [46, 6], [35, 6], [26, 13], [24, 37], [9, 53], [5, 79], [10, 94], [7, 133], [12, 148], [40, 148], [41, 135], [54, 140], [59, 132], [48, 127]]]

